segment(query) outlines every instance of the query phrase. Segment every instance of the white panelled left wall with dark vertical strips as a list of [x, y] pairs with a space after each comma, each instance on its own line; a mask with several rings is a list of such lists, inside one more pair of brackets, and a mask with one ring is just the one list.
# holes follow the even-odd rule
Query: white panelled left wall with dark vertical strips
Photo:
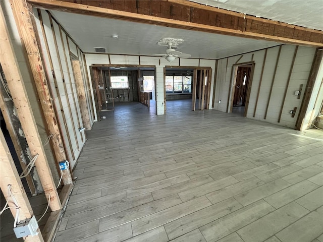
[[84, 131], [79, 131], [83, 121], [70, 58], [70, 52], [78, 56], [77, 46], [48, 12], [41, 10], [38, 16], [34, 9], [34, 14], [65, 150], [73, 168], [86, 140]]

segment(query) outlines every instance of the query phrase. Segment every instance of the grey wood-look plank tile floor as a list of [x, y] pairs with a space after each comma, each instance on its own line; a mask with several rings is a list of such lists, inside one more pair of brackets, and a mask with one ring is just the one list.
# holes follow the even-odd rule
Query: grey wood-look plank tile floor
[[323, 242], [323, 133], [168, 101], [87, 132], [56, 242]]

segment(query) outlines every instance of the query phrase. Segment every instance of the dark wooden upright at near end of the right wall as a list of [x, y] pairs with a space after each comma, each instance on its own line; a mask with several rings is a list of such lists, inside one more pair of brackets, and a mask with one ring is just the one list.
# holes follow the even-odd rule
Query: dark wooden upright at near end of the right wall
[[300, 107], [300, 111], [298, 113], [297, 122], [296, 122], [296, 130], [302, 129], [304, 118], [305, 118], [306, 111], [307, 111], [307, 107], [308, 107], [309, 100], [310, 100], [312, 92], [313, 92], [313, 87], [315, 84], [315, 80], [316, 80], [316, 77], [318, 74], [319, 65], [322, 61], [322, 58], [323, 58], [323, 49], [320, 49], [320, 50], [317, 49], [315, 52], [315, 55], [314, 55], [311, 71], [309, 73], [308, 80], [306, 83], [305, 93], [304, 93], [304, 97], [303, 97], [302, 104]]

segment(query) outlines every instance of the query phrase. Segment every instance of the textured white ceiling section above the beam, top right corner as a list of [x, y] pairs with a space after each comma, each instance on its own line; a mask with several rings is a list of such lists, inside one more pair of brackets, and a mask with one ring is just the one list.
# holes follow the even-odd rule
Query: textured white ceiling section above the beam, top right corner
[[[322, 0], [189, 0], [243, 14], [323, 30]], [[221, 3], [224, 2], [224, 3]]]

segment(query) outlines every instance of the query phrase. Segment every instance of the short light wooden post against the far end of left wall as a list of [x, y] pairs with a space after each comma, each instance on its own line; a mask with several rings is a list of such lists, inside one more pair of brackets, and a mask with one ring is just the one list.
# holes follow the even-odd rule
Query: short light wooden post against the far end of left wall
[[81, 114], [83, 118], [83, 125], [85, 126], [86, 130], [90, 130], [92, 127], [90, 123], [89, 112], [87, 109], [86, 94], [85, 94], [85, 88], [84, 88], [83, 79], [82, 79], [80, 62], [78, 60], [76, 61], [73, 59], [72, 64], [73, 64], [73, 73], [75, 78], [77, 96], [79, 98], [80, 109], [81, 109]]

